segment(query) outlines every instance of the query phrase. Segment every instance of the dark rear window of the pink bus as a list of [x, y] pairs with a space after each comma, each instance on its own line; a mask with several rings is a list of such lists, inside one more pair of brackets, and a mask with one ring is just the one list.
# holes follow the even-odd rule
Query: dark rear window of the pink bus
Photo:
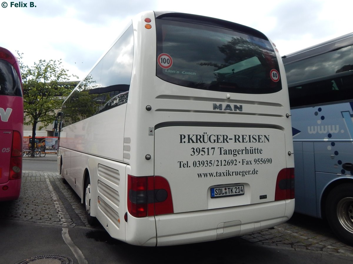
[[0, 59], [0, 95], [22, 96], [20, 79], [10, 63]]

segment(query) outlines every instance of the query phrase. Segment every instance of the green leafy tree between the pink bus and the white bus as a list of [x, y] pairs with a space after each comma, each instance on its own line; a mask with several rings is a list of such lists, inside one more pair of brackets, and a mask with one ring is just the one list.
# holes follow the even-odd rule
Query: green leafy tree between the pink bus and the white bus
[[17, 53], [23, 82], [24, 124], [32, 125], [31, 149], [34, 149], [38, 123], [41, 122], [38, 127], [41, 130], [54, 121], [56, 111], [77, 84], [69, 82], [69, 79], [78, 77], [68, 74], [68, 70], [62, 67], [61, 59], [41, 59], [29, 67], [22, 63], [23, 54]]

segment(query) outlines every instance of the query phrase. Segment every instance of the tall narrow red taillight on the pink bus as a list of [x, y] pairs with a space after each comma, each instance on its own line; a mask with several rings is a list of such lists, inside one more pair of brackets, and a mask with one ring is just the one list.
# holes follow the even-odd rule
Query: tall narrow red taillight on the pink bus
[[9, 180], [22, 177], [22, 137], [20, 132], [13, 131]]

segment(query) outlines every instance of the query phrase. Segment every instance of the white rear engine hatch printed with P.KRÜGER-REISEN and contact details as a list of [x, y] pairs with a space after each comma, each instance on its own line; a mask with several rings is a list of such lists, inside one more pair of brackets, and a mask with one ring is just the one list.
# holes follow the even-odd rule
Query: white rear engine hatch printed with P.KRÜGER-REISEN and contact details
[[[174, 213], [274, 201], [284, 144], [274, 128], [162, 127], [155, 130], [155, 175], [168, 180]], [[231, 185], [244, 186], [244, 194], [211, 198], [211, 187]]]

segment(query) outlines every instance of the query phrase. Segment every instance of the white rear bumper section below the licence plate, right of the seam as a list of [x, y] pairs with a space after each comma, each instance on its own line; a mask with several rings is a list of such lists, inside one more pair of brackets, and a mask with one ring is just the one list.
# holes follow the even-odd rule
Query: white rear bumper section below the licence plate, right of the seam
[[235, 237], [286, 222], [294, 199], [248, 206], [156, 216], [157, 246]]

